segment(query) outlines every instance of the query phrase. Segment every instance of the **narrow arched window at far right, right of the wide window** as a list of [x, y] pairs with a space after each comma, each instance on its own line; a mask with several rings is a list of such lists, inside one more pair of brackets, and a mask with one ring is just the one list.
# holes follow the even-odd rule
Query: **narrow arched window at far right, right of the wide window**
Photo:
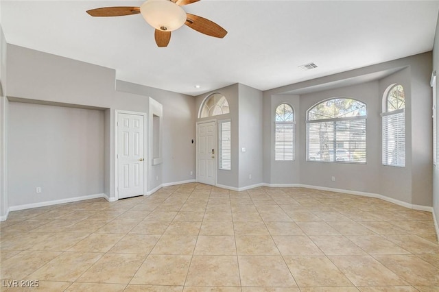
[[404, 88], [392, 84], [383, 96], [383, 165], [405, 167], [405, 95]]

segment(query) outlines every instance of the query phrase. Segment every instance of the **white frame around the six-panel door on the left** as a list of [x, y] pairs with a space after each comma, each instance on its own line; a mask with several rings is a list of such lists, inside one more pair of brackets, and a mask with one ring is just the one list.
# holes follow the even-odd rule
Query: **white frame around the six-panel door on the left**
[[[115, 199], [119, 199], [119, 159], [117, 158], [117, 154], [119, 154], [119, 149], [117, 144], [119, 143], [119, 136], [118, 133], [118, 127], [117, 127], [117, 121], [119, 120], [119, 114], [134, 114], [137, 116], [143, 116], [143, 195], [147, 194], [147, 165], [145, 165], [145, 162], [148, 162], [147, 155], [147, 114], [146, 112], [132, 112], [129, 110], [115, 110]], [[148, 162], [149, 163], [149, 162]]]

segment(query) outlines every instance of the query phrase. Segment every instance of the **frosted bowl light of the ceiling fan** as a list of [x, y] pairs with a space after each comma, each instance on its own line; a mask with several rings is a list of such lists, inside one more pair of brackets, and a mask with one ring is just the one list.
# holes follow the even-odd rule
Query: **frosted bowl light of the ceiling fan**
[[155, 29], [172, 32], [186, 21], [186, 12], [169, 0], [147, 0], [140, 7], [143, 19]]

